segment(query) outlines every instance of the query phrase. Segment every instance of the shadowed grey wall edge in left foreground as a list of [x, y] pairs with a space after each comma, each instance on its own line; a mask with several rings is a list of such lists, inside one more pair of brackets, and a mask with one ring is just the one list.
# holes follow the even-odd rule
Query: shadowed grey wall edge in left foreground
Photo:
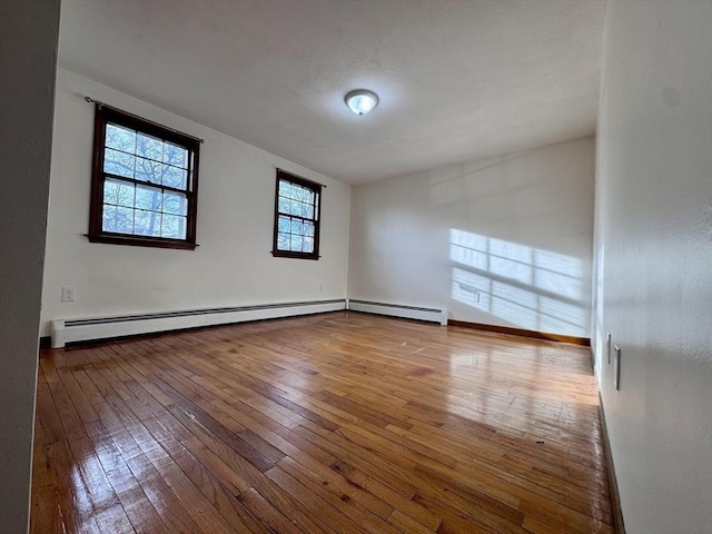
[[59, 0], [0, 2], [0, 533], [3, 534], [28, 530], [58, 36]]

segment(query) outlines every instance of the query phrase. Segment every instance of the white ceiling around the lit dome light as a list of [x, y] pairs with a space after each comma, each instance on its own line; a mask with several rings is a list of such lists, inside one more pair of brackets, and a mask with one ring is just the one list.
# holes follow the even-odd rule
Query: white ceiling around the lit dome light
[[[61, 67], [349, 184], [591, 135], [605, 0], [62, 0]], [[357, 117], [344, 95], [372, 89]]]

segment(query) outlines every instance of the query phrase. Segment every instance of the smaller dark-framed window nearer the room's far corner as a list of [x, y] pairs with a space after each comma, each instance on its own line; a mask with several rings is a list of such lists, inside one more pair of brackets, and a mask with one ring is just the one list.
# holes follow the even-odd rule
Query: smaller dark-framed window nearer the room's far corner
[[320, 197], [319, 184], [277, 169], [274, 256], [319, 259]]

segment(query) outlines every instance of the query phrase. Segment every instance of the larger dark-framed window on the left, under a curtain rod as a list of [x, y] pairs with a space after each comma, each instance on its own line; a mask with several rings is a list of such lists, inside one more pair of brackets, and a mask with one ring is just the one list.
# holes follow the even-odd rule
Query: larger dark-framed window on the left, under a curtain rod
[[89, 240], [194, 249], [199, 146], [97, 103]]

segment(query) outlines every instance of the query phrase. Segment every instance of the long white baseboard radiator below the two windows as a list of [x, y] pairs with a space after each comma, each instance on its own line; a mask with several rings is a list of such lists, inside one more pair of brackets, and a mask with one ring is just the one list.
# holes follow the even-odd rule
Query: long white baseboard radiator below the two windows
[[194, 309], [158, 314], [122, 315], [88, 319], [58, 319], [51, 323], [52, 348], [68, 343], [180, 330], [200, 326], [294, 317], [346, 309], [346, 299], [265, 304], [230, 308]]

